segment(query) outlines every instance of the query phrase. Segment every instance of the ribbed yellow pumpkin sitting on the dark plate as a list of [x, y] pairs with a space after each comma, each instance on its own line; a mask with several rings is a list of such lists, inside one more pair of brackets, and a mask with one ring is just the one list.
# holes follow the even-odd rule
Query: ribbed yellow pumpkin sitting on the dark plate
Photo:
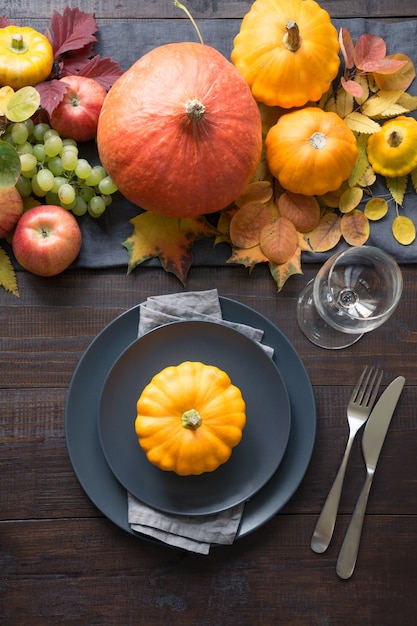
[[184, 361], [156, 374], [137, 402], [135, 431], [148, 460], [181, 476], [212, 472], [242, 438], [246, 405], [228, 374]]

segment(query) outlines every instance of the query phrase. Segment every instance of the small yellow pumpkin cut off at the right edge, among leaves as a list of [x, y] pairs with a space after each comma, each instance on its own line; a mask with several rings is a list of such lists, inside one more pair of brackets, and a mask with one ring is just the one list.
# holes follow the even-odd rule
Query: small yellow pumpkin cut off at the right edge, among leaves
[[368, 139], [368, 159], [377, 174], [405, 176], [417, 167], [417, 121], [400, 115]]

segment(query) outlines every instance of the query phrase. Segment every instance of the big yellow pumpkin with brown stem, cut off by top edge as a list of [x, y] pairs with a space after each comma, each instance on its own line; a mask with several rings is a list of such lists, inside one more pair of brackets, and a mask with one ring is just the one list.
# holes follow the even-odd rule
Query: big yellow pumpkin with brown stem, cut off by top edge
[[337, 30], [314, 0], [255, 0], [235, 37], [232, 61], [255, 100], [304, 106], [337, 76]]

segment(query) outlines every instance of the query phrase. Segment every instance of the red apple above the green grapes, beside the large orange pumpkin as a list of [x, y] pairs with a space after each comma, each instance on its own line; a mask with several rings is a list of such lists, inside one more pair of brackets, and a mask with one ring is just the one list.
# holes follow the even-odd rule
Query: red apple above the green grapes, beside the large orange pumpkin
[[106, 90], [86, 76], [64, 76], [67, 92], [51, 115], [51, 126], [61, 137], [89, 141], [96, 136], [97, 123]]

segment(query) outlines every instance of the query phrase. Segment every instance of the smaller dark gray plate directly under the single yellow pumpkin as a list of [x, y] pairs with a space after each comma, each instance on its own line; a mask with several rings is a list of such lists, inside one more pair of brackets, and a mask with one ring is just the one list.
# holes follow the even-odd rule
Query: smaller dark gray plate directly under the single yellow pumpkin
[[[152, 465], [134, 428], [145, 386], [165, 367], [184, 361], [225, 371], [246, 403], [246, 425], [232, 456], [199, 476]], [[272, 359], [238, 330], [206, 321], [167, 324], [134, 341], [104, 382], [98, 414], [104, 456], [119, 482], [148, 506], [181, 515], [210, 515], [251, 498], [278, 468], [290, 424], [287, 390]]]

